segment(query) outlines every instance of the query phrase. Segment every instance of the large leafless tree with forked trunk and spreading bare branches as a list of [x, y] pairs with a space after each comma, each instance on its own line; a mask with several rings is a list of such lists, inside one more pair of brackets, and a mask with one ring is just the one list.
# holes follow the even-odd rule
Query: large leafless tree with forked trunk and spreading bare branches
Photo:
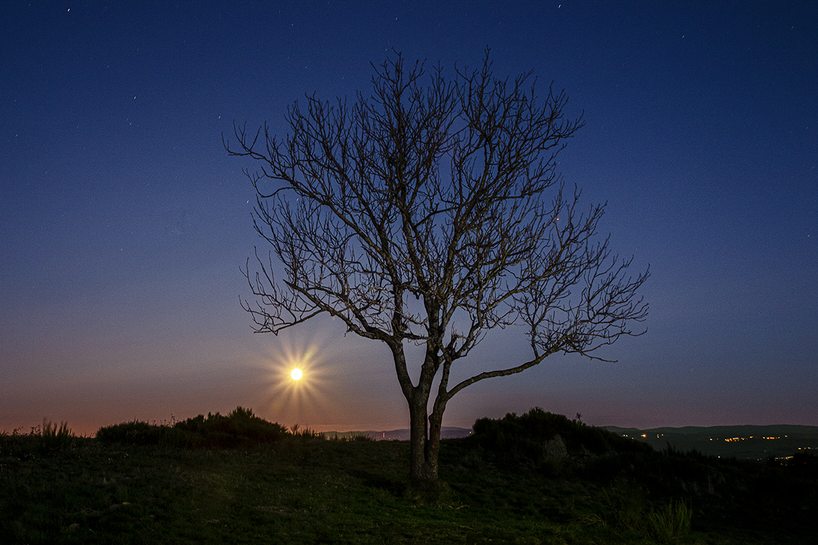
[[[280, 138], [267, 124], [235, 127], [230, 155], [257, 191], [254, 227], [272, 245], [244, 271], [255, 331], [279, 331], [327, 313], [393, 354], [409, 405], [411, 477], [434, 482], [443, 412], [465, 387], [522, 372], [551, 354], [583, 354], [636, 336], [647, 304], [636, 291], [648, 271], [596, 240], [605, 205], [580, 210], [577, 190], [555, 172], [582, 119], [564, 119], [564, 92], [537, 97], [532, 74], [496, 79], [488, 51], [480, 70], [400, 54], [374, 66], [371, 97], [350, 106], [307, 97]], [[524, 326], [527, 361], [450, 382], [488, 331]], [[425, 346], [417, 383], [404, 348]], [[431, 412], [429, 400], [439, 378]]]

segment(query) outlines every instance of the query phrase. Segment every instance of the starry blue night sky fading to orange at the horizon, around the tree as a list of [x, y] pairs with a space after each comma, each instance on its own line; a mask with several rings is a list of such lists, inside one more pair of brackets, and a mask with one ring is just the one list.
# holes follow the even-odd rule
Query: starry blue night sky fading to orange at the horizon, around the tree
[[[135, 3], [135, 6], [125, 4]], [[534, 70], [586, 126], [558, 168], [650, 266], [647, 333], [483, 381], [444, 426], [542, 407], [596, 426], [818, 425], [815, 2], [10, 2], [0, 17], [0, 431], [240, 405], [408, 427], [391, 354], [319, 319], [254, 334], [254, 190], [233, 121], [284, 133], [370, 63]], [[233, 139], [235, 143], [235, 139]], [[492, 334], [469, 375], [528, 357]], [[530, 350], [530, 349], [529, 349]], [[299, 361], [304, 377], [287, 378]], [[507, 363], [507, 364], [506, 364]]]

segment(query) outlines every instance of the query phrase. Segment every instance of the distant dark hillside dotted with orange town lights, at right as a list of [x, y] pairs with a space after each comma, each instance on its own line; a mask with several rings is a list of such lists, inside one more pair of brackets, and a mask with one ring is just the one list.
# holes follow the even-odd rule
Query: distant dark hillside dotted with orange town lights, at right
[[798, 452], [818, 454], [818, 426], [685, 426], [639, 430], [603, 426], [624, 437], [644, 441], [657, 450], [668, 445], [676, 450], [720, 457], [764, 460], [783, 458]]

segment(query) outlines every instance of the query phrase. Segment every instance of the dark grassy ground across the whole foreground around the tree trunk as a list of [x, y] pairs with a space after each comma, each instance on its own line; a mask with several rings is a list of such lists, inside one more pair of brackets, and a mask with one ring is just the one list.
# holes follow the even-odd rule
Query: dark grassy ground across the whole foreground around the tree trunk
[[[202, 419], [215, 426], [205, 439], [230, 435], [222, 419]], [[610, 453], [554, 475], [525, 449], [514, 458], [452, 439], [441, 449], [445, 489], [429, 498], [408, 486], [406, 442], [290, 430], [207, 448], [131, 428], [151, 444], [76, 438], [51, 423], [0, 434], [0, 543], [813, 543], [802, 525], [803, 508], [816, 507], [811, 469], [730, 473], [682, 453]], [[70, 440], [46, 448], [57, 435]]]

